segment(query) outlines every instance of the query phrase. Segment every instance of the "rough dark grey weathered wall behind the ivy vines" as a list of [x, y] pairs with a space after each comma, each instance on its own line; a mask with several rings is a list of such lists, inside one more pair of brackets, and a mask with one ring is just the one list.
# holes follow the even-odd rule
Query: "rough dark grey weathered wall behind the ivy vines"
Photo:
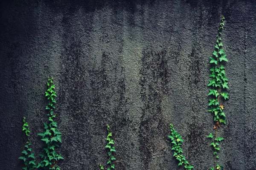
[[47, 121], [48, 76], [57, 87], [63, 170], [106, 164], [107, 124], [127, 170], [182, 169], [167, 138], [170, 123], [195, 170], [213, 166], [207, 84], [221, 15], [230, 99], [219, 162], [255, 170], [254, 0], [1, 1], [0, 169], [22, 167], [23, 116], [41, 152], [36, 133]]

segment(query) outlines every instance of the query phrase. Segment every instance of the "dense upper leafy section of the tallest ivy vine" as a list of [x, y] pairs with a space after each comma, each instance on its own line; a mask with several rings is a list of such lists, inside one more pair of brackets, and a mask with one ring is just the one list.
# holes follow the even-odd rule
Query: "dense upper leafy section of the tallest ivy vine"
[[220, 26], [218, 28], [217, 41], [215, 44], [215, 50], [213, 51], [213, 56], [210, 57], [210, 63], [215, 64], [210, 71], [212, 71], [211, 77], [209, 80], [208, 86], [212, 87], [209, 89], [209, 96], [212, 96], [212, 99], [209, 99], [210, 109], [209, 112], [212, 112], [214, 115], [214, 121], [219, 123], [226, 124], [226, 115], [223, 112], [224, 106], [220, 104], [220, 98], [222, 97], [224, 100], [229, 99], [228, 93], [224, 90], [228, 89], [228, 79], [225, 73], [225, 67], [221, 64], [221, 62], [228, 62], [226, 58], [226, 54], [223, 47], [223, 43], [221, 42], [221, 31], [224, 27], [224, 17], [222, 17]]

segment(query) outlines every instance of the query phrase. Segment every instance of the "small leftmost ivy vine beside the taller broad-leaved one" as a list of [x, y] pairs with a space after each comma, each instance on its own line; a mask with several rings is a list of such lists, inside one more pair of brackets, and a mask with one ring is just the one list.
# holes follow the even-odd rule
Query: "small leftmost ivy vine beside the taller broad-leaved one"
[[34, 170], [36, 168], [36, 162], [35, 162], [35, 154], [32, 153], [31, 143], [29, 141], [29, 125], [28, 122], [26, 122], [26, 117], [23, 117], [23, 129], [22, 131], [25, 131], [28, 141], [26, 142], [26, 145], [24, 146], [22, 153], [22, 156], [19, 157], [19, 159], [22, 159], [24, 161], [25, 167], [23, 167], [23, 170]]

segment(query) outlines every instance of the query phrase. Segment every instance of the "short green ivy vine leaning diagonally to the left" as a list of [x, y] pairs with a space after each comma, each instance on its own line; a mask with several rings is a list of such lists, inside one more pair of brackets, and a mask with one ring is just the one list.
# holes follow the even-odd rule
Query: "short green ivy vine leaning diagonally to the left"
[[188, 161], [186, 161], [185, 156], [183, 156], [183, 149], [180, 147], [183, 142], [182, 136], [177, 133], [172, 124], [170, 124], [170, 129], [171, 135], [168, 137], [172, 140], [172, 150], [175, 150], [173, 156], [179, 161], [178, 166], [184, 164], [184, 168], [186, 170], [192, 170], [194, 167], [190, 165]]

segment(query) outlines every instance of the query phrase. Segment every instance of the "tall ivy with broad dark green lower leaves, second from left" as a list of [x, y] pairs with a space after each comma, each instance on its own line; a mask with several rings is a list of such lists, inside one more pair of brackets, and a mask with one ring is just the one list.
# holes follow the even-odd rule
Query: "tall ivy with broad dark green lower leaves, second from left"
[[55, 148], [59, 147], [61, 141], [61, 132], [59, 132], [57, 127], [57, 122], [55, 122], [56, 114], [53, 112], [55, 110], [55, 97], [56, 92], [54, 91], [55, 85], [53, 84], [53, 78], [48, 78], [47, 86], [48, 89], [45, 92], [49, 104], [46, 106], [49, 116], [49, 123], [44, 123], [44, 132], [38, 133], [42, 137], [42, 141], [45, 142], [43, 153], [39, 154], [43, 159], [38, 163], [37, 168], [42, 167], [45, 170], [61, 170], [57, 165], [60, 159], [64, 159], [61, 154], [56, 153]]

